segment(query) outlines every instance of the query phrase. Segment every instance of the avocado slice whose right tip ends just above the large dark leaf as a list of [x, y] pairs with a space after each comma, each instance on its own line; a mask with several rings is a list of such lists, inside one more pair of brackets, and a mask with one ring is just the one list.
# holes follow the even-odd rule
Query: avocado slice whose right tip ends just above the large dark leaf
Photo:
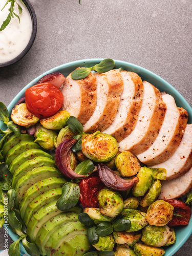
[[62, 188], [66, 183], [63, 178], [51, 177], [45, 180], [36, 182], [33, 186], [27, 189], [22, 200], [19, 202], [20, 215], [24, 218], [28, 204], [33, 201], [38, 195], [44, 194], [46, 191], [53, 188]]

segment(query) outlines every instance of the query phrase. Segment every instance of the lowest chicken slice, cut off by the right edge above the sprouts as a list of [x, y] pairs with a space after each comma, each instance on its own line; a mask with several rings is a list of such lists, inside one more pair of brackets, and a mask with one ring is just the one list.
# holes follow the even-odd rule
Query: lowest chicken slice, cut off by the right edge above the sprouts
[[184, 196], [192, 187], [192, 168], [177, 179], [162, 181], [159, 199], [175, 199]]

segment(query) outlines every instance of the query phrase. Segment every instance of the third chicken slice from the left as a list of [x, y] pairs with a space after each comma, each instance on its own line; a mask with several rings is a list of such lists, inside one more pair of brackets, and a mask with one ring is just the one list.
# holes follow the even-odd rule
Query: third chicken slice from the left
[[134, 72], [121, 71], [123, 92], [120, 97], [115, 119], [103, 133], [116, 138], [118, 142], [126, 138], [135, 128], [143, 99], [143, 83]]

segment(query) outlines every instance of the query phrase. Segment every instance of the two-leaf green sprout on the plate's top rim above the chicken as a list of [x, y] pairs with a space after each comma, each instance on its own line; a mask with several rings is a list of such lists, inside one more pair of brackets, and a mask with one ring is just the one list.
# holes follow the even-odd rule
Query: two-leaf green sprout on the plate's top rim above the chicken
[[92, 70], [98, 73], [104, 73], [112, 70], [115, 67], [115, 61], [113, 59], [103, 59], [99, 64], [91, 68], [76, 69], [72, 72], [71, 77], [74, 80], [86, 78]]

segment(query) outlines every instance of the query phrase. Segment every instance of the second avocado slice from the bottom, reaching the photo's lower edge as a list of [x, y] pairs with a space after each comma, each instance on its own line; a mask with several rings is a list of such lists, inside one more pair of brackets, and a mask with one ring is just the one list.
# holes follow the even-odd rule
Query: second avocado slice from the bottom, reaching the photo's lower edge
[[[51, 255], [53, 250], [57, 250], [62, 243], [66, 243], [76, 235], [83, 236], [83, 234], [87, 235], [87, 229], [82, 223], [80, 223], [80, 221], [66, 223], [64, 226], [58, 228], [54, 233], [52, 233], [48, 239], [45, 245], [46, 255]], [[75, 239], [73, 240], [73, 245], [74, 244], [76, 244]], [[82, 241], [80, 246], [82, 246]]]

